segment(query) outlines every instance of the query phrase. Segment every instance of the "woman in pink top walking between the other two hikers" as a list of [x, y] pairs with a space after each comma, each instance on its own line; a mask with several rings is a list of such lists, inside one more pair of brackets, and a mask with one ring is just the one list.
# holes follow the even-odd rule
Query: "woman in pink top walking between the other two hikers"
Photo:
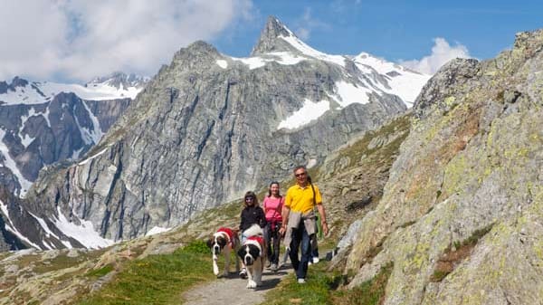
[[268, 195], [264, 198], [263, 208], [266, 214], [265, 237], [268, 243], [268, 263], [271, 263], [271, 271], [276, 272], [279, 264], [279, 247], [281, 242], [282, 217], [281, 209], [285, 199], [279, 193], [279, 182], [273, 181], [270, 184]]

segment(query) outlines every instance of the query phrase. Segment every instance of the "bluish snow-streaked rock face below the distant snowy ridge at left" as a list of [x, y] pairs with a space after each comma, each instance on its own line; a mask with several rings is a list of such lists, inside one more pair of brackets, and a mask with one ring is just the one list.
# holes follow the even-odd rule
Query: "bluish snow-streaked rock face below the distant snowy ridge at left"
[[129, 102], [81, 100], [62, 92], [45, 103], [0, 106], [0, 184], [24, 195], [42, 167], [77, 159], [98, 143]]

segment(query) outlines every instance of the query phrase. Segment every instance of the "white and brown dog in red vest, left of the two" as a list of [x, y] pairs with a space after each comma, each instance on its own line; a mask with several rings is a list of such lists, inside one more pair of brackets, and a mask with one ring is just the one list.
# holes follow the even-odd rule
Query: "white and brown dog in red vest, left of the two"
[[[240, 248], [240, 238], [237, 230], [229, 228], [219, 228], [213, 236], [207, 240], [207, 246], [213, 254], [213, 272], [214, 275], [219, 275], [219, 254], [224, 253], [224, 272], [223, 276], [228, 276], [230, 272], [230, 253], [237, 251]], [[240, 260], [235, 256], [235, 272], [240, 271]]]

